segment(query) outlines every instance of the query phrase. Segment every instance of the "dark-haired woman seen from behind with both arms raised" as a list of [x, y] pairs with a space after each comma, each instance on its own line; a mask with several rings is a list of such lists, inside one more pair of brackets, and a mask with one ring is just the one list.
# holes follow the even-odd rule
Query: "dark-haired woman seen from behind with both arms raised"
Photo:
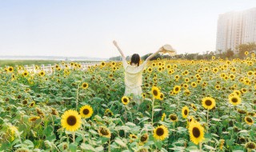
[[156, 54], [161, 52], [163, 49], [162, 47], [156, 51], [154, 54], [151, 54], [148, 58], [146, 58], [145, 62], [142, 65], [139, 65], [140, 57], [138, 54], [133, 54], [130, 60], [130, 65], [126, 62], [126, 56], [122, 53], [122, 50], [118, 46], [118, 43], [113, 41], [114, 46], [116, 46], [122, 55], [122, 65], [125, 69], [125, 84], [126, 84], [126, 91], [125, 96], [134, 94], [135, 96], [142, 95], [142, 72], [146, 63], [150, 61]]

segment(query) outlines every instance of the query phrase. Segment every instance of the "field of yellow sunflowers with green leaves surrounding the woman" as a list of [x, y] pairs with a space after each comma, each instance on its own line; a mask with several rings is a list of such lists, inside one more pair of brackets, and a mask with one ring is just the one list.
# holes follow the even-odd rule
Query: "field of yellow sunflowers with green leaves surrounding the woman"
[[141, 97], [122, 62], [0, 70], [0, 151], [255, 151], [256, 60], [155, 60]]

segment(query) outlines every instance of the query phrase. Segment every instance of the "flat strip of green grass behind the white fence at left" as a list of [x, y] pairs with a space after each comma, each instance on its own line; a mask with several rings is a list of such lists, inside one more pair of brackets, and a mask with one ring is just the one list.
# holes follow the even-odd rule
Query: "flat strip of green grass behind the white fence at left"
[[[45, 66], [48, 66], [48, 64], [54, 65], [56, 63], [60, 63], [62, 61], [56, 61], [56, 60], [0, 60], [0, 67], [4, 66], [15, 66], [15, 65], [38, 65], [41, 66], [44, 64]], [[68, 61], [71, 62], [71, 61]], [[75, 62], [94, 62], [94, 61], [75, 61]]]

